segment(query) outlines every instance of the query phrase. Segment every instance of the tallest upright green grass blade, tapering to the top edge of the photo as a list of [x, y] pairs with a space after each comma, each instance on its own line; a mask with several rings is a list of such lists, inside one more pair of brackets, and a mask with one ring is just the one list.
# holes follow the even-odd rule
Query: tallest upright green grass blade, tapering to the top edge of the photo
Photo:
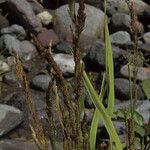
[[113, 116], [114, 112], [114, 65], [113, 65], [113, 54], [112, 54], [112, 47], [111, 47], [111, 40], [109, 36], [109, 30], [108, 30], [108, 21], [107, 21], [107, 15], [106, 15], [106, 0], [105, 0], [105, 50], [106, 50], [106, 74], [108, 77], [109, 82], [109, 94], [108, 94], [108, 112], [110, 116]]

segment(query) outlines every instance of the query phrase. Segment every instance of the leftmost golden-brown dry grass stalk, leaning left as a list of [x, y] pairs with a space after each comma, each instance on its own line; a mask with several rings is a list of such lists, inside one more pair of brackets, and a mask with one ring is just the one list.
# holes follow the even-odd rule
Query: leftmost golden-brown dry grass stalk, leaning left
[[25, 96], [26, 96], [26, 102], [27, 102], [29, 111], [30, 111], [31, 116], [32, 116], [32, 118], [31, 118], [31, 130], [33, 133], [33, 138], [41, 150], [48, 150], [48, 143], [47, 143], [47, 140], [46, 140], [45, 135], [43, 133], [42, 124], [41, 124], [41, 122], [38, 118], [38, 115], [36, 113], [35, 104], [34, 104], [34, 101], [32, 99], [32, 96], [31, 96], [29, 83], [27, 81], [26, 74], [23, 71], [21, 61], [20, 61], [17, 53], [15, 53], [15, 50], [14, 50], [14, 54], [15, 54], [15, 58], [16, 58], [16, 73], [17, 73], [19, 80], [21, 81], [22, 86], [23, 86]]

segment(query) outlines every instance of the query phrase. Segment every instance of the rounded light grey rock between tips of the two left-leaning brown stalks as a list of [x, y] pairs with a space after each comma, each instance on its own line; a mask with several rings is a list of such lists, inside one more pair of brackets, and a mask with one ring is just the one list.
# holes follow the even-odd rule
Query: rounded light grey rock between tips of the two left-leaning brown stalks
[[20, 50], [18, 55], [25, 61], [34, 58], [37, 54], [36, 47], [30, 41], [20, 42]]

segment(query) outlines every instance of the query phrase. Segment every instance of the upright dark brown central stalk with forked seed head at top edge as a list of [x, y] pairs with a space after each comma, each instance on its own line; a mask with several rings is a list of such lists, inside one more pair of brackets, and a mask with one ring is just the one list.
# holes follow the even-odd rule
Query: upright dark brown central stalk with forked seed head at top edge
[[75, 10], [75, 2], [71, 1], [69, 2], [69, 14], [72, 20], [72, 26], [71, 31], [73, 34], [73, 54], [74, 54], [74, 61], [75, 61], [75, 104], [76, 104], [76, 137], [75, 142], [77, 145], [77, 149], [80, 150], [83, 148], [83, 135], [82, 135], [82, 128], [81, 128], [81, 121], [80, 121], [80, 97], [81, 97], [81, 91], [82, 91], [82, 66], [80, 64], [81, 61], [81, 52], [79, 47], [79, 41], [81, 33], [85, 26], [85, 18], [86, 15], [84, 13], [84, 0], [79, 1], [79, 9], [78, 13], [76, 15]]

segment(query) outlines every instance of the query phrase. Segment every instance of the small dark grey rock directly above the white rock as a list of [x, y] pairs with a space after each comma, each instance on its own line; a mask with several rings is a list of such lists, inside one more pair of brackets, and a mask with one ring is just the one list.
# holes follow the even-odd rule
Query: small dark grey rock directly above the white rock
[[71, 54], [72, 45], [66, 41], [59, 42], [53, 49], [54, 53]]

